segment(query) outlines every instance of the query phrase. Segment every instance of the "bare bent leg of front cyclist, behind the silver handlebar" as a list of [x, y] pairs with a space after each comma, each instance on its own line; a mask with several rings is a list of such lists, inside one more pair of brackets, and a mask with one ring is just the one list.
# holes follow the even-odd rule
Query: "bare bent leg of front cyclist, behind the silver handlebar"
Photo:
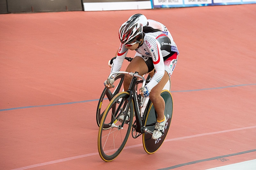
[[[148, 73], [148, 66], [141, 56], [136, 55], [126, 68], [126, 72], [139, 72], [139, 75]], [[124, 91], [128, 90], [132, 77], [129, 75], [124, 76], [123, 88]]]

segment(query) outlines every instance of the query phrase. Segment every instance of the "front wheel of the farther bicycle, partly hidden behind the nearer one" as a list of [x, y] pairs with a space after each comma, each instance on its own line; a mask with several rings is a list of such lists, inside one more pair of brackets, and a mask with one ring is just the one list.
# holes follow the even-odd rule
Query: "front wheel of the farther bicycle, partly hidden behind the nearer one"
[[[97, 105], [97, 109], [96, 109], [96, 122], [97, 122], [97, 125], [98, 127], [100, 127], [100, 122], [101, 122], [101, 118], [103, 116], [103, 113], [107, 107], [107, 104], [105, 103], [109, 103], [111, 101], [111, 99], [113, 98], [113, 96], [115, 94], [118, 94], [120, 89], [121, 89], [121, 86], [123, 84], [123, 80], [124, 80], [124, 74], [119, 74], [115, 77], [115, 82], [117, 80], [120, 79], [120, 82], [119, 84], [116, 86], [116, 90], [114, 90], [113, 92], [110, 91], [110, 89], [108, 89], [107, 87], [105, 87], [101, 93], [101, 96], [100, 96], [100, 99], [99, 99], [99, 102], [98, 102], [98, 105]], [[121, 84], [120, 84], [121, 83]], [[102, 111], [103, 110], [103, 111]], [[114, 110], [113, 110], [114, 111]], [[105, 128], [104, 128], [105, 129]]]

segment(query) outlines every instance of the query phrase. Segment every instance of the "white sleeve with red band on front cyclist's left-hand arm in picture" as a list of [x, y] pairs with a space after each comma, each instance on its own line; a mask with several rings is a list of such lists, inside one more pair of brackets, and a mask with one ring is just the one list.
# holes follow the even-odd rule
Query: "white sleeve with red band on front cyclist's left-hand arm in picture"
[[[126, 57], [127, 53], [128, 53], [128, 49], [125, 48], [124, 45], [121, 43], [117, 52], [116, 59], [113, 61], [110, 74], [120, 71], [123, 64], [123, 60]], [[113, 75], [113, 77], [115, 78], [116, 75]]]

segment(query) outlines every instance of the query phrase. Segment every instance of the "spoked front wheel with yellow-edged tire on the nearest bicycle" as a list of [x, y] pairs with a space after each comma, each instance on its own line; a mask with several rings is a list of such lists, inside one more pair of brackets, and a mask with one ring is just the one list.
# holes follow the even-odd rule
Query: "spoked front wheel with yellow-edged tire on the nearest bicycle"
[[[118, 120], [118, 118], [123, 111], [130, 109], [130, 113], [133, 113], [133, 102], [131, 101], [129, 106], [127, 103], [129, 96], [130, 94], [127, 92], [121, 92], [115, 95], [109, 102], [102, 116], [97, 145], [99, 155], [103, 161], [113, 161], [121, 153], [128, 140], [132, 130], [133, 116], [129, 117], [129, 123], [124, 123], [122, 129], [120, 128], [122, 123]], [[112, 113], [111, 111], [113, 106], [116, 107], [115, 113]], [[105, 123], [105, 121], [110, 123]], [[109, 126], [107, 130], [103, 129], [106, 124]], [[113, 127], [114, 125], [116, 127]]]

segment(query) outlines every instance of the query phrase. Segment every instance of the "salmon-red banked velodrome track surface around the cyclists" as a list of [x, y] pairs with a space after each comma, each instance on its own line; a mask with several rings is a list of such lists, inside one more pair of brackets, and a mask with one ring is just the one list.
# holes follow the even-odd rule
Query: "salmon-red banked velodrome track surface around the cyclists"
[[[96, 106], [134, 13], [164, 23], [180, 50], [173, 119], [155, 154], [130, 137], [106, 163]], [[1, 170], [205, 170], [256, 159], [255, 4], [2, 14], [0, 75]]]

